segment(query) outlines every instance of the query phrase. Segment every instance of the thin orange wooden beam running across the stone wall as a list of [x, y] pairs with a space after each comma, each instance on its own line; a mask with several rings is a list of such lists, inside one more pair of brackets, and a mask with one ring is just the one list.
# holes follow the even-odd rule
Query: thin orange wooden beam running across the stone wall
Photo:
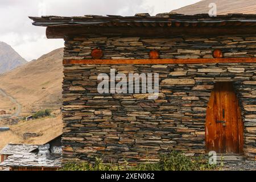
[[256, 57], [212, 59], [64, 59], [63, 64], [210, 64], [210, 63], [256, 63]]

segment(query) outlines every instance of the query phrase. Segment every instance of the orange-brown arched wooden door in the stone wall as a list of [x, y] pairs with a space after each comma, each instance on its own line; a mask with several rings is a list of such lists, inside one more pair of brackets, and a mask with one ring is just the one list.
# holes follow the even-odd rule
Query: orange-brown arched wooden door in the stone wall
[[232, 82], [218, 82], [214, 85], [207, 107], [205, 141], [207, 152], [243, 152], [243, 122]]

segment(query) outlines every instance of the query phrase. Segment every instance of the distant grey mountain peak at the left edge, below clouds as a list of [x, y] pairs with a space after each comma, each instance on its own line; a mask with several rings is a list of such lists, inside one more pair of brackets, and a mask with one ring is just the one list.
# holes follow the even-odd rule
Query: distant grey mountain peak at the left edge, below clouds
[[0, 42], [0, 74], [26, 63], [27, 61], [15, 52], [11, 46]]

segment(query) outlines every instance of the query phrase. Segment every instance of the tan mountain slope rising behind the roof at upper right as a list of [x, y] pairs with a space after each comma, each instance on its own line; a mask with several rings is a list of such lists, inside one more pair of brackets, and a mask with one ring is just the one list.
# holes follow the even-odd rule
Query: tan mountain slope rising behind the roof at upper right
[[210, 10], [208, 7], [210, 3], [216, 3], [217, 14], [219, 15], [229, 13], [256, 14], [255, 0], [203, 0], [193, 5], [173, 10], [172, 12], [187, 15], [208, 13]]

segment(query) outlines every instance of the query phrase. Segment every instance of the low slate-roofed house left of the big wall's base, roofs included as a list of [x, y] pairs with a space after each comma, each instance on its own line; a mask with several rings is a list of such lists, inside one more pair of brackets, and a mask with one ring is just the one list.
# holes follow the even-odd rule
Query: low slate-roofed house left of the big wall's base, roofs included
[[[61, 136], [44, 145], [7, 144], [0, 151], [0, 171], [56, 171], [61, 167]], [[40, 152], [40, 147], [47, 152]]]

